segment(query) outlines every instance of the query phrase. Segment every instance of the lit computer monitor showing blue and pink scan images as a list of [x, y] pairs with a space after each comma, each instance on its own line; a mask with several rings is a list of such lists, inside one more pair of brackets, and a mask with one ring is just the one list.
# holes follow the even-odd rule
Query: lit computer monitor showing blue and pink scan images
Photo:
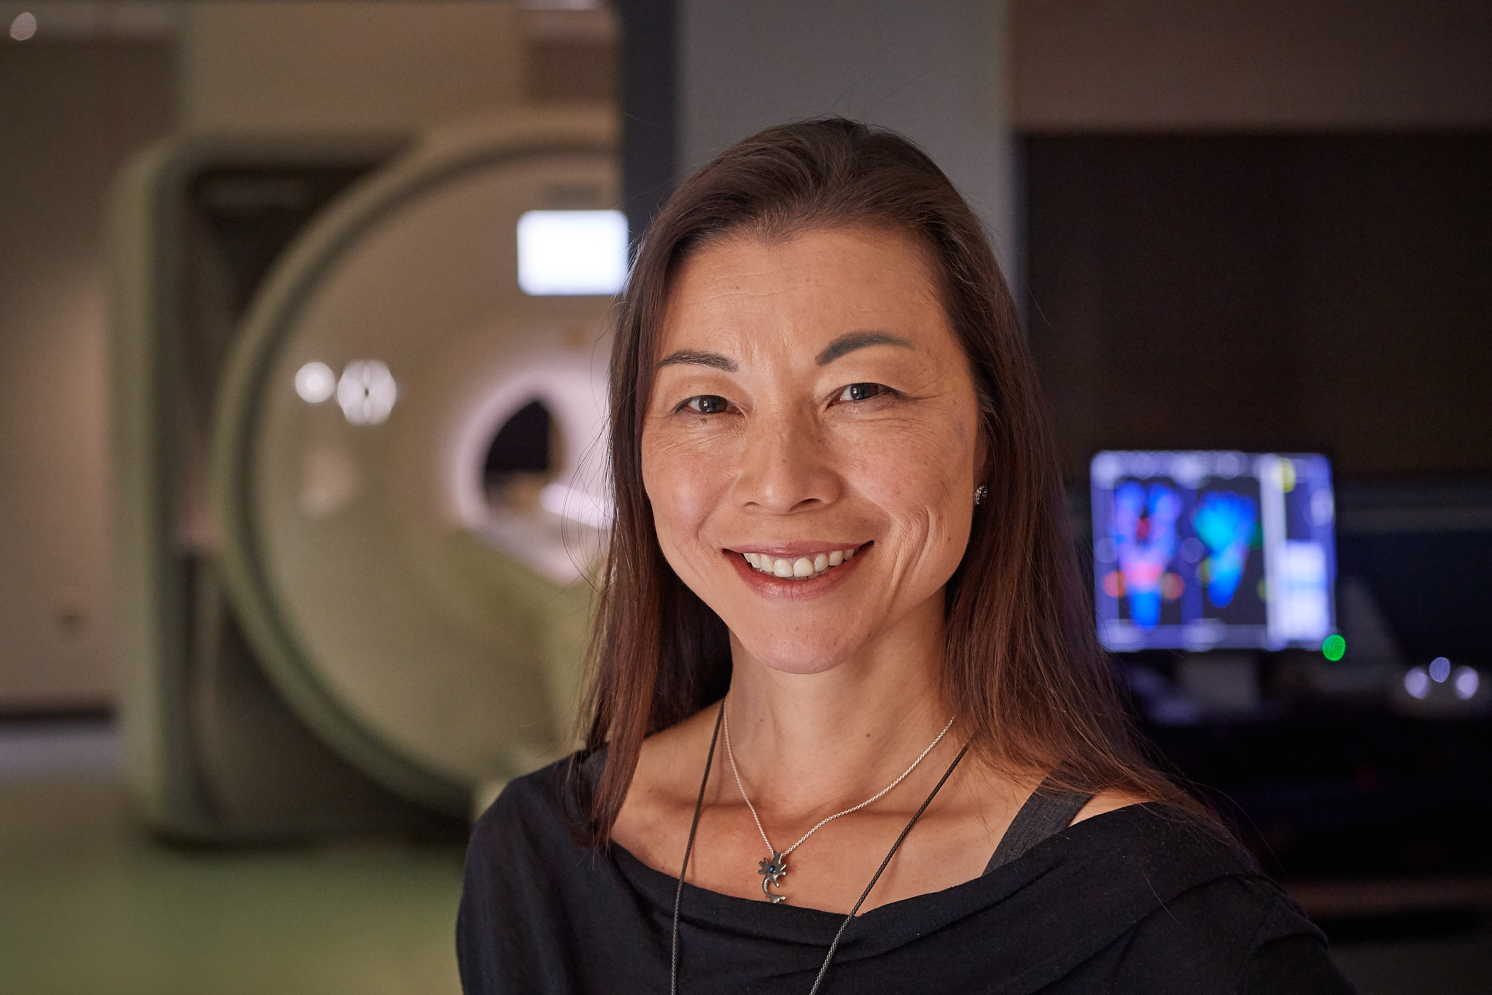
[[1325, 456], [1100, 452], [1089, 479], [1110, 650], [1320, 649], [1335, 633]]

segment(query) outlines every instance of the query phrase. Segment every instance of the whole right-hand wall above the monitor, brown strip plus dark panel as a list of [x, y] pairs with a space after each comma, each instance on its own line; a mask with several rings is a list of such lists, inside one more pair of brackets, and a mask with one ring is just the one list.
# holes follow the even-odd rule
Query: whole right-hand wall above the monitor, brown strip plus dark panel
[[1100, 448], [1492, 471], [1492, 4], [1018, 0], [1026, 315]]

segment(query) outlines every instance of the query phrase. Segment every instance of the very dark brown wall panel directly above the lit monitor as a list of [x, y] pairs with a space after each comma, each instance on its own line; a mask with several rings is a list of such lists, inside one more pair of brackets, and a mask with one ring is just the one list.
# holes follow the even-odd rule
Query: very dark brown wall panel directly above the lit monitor
[[1112, 448], [1492, 473], [1492, 131], [1044, 134], [1026, 175], [1070, 479]]

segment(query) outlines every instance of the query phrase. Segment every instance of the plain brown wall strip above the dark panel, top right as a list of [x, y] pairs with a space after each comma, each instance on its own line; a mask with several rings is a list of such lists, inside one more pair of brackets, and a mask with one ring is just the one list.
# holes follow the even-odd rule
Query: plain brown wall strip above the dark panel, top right
[[1485, 0], [1015, 0], [1022, 131], [1492, 124]]

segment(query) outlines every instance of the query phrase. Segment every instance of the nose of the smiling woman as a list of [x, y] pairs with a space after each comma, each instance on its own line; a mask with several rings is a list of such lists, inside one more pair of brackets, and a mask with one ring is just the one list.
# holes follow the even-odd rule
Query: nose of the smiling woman
[[833, 504], [841, 492], [833, 449], [809, 412], [758, 413], [752, 419], [733, 492], [740, 507], [788, 515]]

